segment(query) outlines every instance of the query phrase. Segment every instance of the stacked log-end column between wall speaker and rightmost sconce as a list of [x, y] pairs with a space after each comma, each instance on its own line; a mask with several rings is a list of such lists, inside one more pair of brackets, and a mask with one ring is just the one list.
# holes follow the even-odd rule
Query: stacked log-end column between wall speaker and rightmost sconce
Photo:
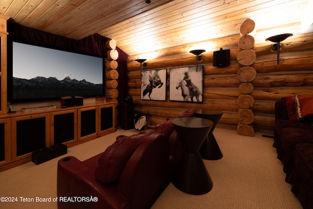
[[237, 133], [243, 136], [252, 137], [254, 135], [254, 129], [252, 122], [254, 120], [254, 115], [252, 112], [252, 107], [254, 105], [254, 98], [250, 95], [253, 91], [253, 85], [251, 82], [256, 76], [256, 71], [251, 65], [254, 64], [256, 59], [254, 48], [254, 38], [248, 33], [254, 30], [254, 21], [247, 19], [240, 26], [241, 38], [238, 42], [238, 47], [240, 52], [237, 55], [237, 61], [240, 69], [237, 72], [237, 78], [239, 81], [243, 82], [239, 86], [239, 91], [242, 93], [238, 99], [237, 103], [240, 107], [238, 110], [239, 123], [237, 125]]

